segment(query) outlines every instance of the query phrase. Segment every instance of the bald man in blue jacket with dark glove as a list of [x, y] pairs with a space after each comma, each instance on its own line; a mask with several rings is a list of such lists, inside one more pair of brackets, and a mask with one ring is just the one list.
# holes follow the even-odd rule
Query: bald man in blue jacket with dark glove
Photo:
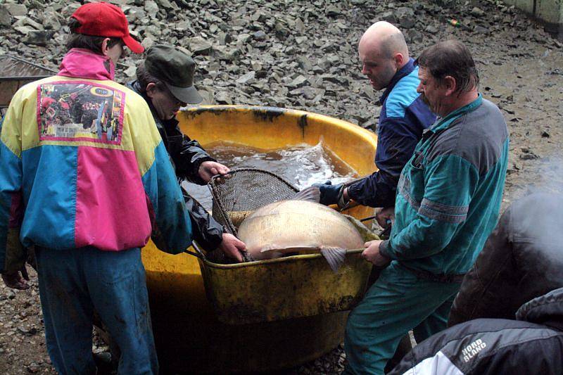
[[400, 171], [423, 130], [434, 123], [436, 116], [417, 93], [418, 68], [397, 27], [384, 21], [374, 23], [360, 39], [358, 54], [362, 73], [372, 87], [385, 89], [379, 99], [382, 107], [375, 154], [378, 171], [348, 188], [331, 182], [320, 185], [321, 203], [342, 208], [351, 198], [362, 205], [388, 208], [395, 203]]

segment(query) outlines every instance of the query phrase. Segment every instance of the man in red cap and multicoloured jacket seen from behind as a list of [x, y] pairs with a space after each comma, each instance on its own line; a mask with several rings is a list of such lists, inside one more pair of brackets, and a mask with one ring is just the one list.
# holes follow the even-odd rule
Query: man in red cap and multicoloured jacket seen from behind
[[[93, 311], [121, 351], [119, 374], [156, 374], [141, 248], [179, 253], [191, 220], [144, 99], [113, 82], [143, 47], [117, 6], [85, 4], [53, 77], [13, 96], [0, 136], [0, 273], [34, 246], [46, 346], [59, 374], [95, 374]], [[15, 283], [18, 284], [18, 283]]]

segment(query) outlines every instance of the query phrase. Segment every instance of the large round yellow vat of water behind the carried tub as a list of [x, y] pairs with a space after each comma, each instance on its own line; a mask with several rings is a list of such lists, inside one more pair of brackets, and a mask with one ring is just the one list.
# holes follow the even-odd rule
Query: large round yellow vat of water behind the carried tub
[[[204, 147], [217, 141], [231, 141], [272, 150], [296, 144], [314, 146], [322, 140], [325, 146], [360, 175], [375, 170], [373, 160], [376, 136], [333, 117], [281, 108], [201, 106], [182, 111], [177, 118], [182, 131], [200, 141]], [[346, 213], [361, 218], [372, 215], [372, 212], [371, 208], [356, 207]], [[236, 269], [246, 269], [244, 272], [253, 269], [251, 272], [260, 279], [260, 272], [269, 272], [267, 269], [284, 267], [289, 275], [298, 272], [292, 267], [303, 267], [298, 264], [308, 262], [290, 258], [265, 261], [261, 262], [263, 265], [260, 272], [257, 268], [251, 268], [251, 265], [205, 264], [204, 269], [208, 269], [204, 271], [208, 274], [205, 277], [217, 280], [212, 283], [217, 284], [217, 291], [210, 290], [208, 299], [197, 258], [187, 254], [165, 254], [157, 250], [153, 243], [148, 243], [142, 254], [158, 358], [164, 373], [176, 371], [224, 374], [286, 369], [320, 357], [343, 339], [347, 312], [308, 316], [316, 312], [303, 310], [301, 317], [295, 317], [295, 312], [289, 310], [280, 310], [279, 314], [259, 312], [252, 315], [258, 323], [225, 324], [224, 322], [237, 322], [239, 317], [236, 309], [222, 312], [225, 316], [221, 322], [210, 302], [214, 299], [213, 293], [220, 291], [220, 284], [240, 283], [242, 286], [245, 282], [241, 274], [227, 273], [229, 267], [235, 269], [235, 272]], [[320, 255], [298, 257], [320, 262], [319, 265], [321, 262], [326, 263]], [[359, 261], [358, 258], [358, 264], [367, 266]], [[353, 262], [348, 262], [350, 268]], [[329, 271], [327, 265], [325, 268]], [[307, 269], [303, 270], [303, 273], [306, 272]], [[329, 273], [327, 277], [331, 277]], [[305, 295], [282, 293], [283, 284], [287, 280], [280, 278], [275, 290], [262, 289], [263, 299], [260, 304], [267, 304], [269, 298], [275, 299], [278, 306], [296, 304], [296, 298], [306, 301]], [[303, 278], [303, 283], [305, 282], [306, 277]], [[363, 282], [359, 281], [358, 285]], [[358, 288], [358, 285], [353, 288]], [[327, 284], [327, 290], [329, 288], [331, 286]], [[307, 290], [306, 284], [302, 290]], [[351, 305], [354, 298], [357, 299], [353, 297], [347, 303]], [[343, 301], [334, 300], [334, 305], [327, 303], [317, 306], [317, 312], [336, 311], [343, 304]], [[258, 316], [260, 319], [256, 318]], [[263, 317], [266, 319], [262, 319]], [[286, 319], [290, 317], [293, 318]], [[259, 322], [262, 320], [266, 322]]]

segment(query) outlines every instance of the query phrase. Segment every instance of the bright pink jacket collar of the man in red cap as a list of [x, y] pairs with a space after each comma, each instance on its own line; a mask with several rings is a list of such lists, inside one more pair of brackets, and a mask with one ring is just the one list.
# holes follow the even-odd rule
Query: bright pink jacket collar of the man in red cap
[[115, 65], [108, 56], [89, 49], [73, 48], [65, 55], [58, 75], [87, 80], [112, 80], [115, 77]]

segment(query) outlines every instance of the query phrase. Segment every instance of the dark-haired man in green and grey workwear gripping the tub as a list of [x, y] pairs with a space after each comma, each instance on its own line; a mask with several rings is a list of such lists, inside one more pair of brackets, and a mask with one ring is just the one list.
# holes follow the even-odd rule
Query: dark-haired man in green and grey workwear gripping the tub
[[479, 94], [471, 53], [446, 41], [416, 63], [417, 91], [438, 119], [401, 172], [390, 238], [362, 253], [388, 267], [350, 312], [345, 374], [383, 374], [410, 329], [418, 342], [445, 329], [463, 275], [498, 220], [508, 131]]

